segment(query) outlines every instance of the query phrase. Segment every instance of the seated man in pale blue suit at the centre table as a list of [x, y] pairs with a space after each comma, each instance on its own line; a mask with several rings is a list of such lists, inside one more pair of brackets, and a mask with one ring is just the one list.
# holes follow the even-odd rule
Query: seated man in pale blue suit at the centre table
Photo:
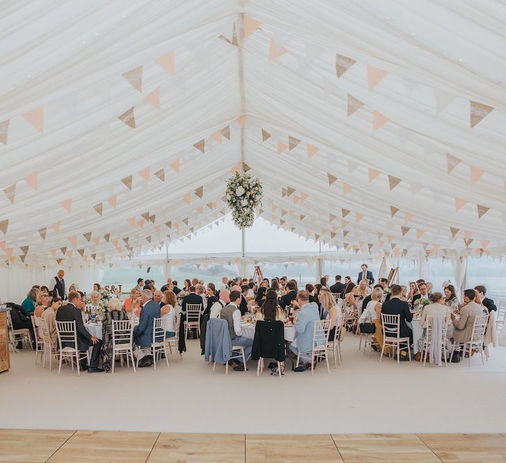
[[307, 291], [298, 292], [297, 304], [301, 308], [295, 323], [297, 347], [289, 344], [289, 348], [295, 355], [301, 352], [299, 365], [294, 371], [305, 371], [311, 368], [311, 344], [313, 341], [314, 321], [320, 319], [320, 314], [318, 312], [318, 305], [309, 301]]

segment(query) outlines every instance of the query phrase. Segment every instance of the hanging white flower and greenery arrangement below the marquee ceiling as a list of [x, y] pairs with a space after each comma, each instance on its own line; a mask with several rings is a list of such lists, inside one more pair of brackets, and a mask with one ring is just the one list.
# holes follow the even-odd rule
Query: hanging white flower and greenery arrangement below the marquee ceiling
[[255, 208], [262, 205], [262, 184], [250, 174], [236, 173], [227, 181], [225, 199], [239, 228], [248, 228], [255, 220]]

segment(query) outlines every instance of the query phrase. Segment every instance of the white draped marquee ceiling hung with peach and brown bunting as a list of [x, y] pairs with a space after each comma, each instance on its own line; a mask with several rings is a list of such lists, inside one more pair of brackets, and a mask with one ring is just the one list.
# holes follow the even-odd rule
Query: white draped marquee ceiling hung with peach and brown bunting
[[191, 236], [243, 169], [261, 217], [341, 255], [505, 255], [504, 24], [494, 0], [3, 2], [1, 285]]

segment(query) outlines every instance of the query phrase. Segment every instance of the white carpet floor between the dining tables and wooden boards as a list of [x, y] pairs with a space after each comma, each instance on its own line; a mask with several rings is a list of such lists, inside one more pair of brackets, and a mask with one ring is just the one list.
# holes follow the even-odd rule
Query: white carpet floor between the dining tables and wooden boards
[[207, 366], [189, 340], [178, 364], [81, 373], [35, 366], [31, 351], [11, 353], [0, 373], [0, 428], [157, 432], [351, 433], [506, 432], [506, 348], [448, 367], [422, 367], [357, 351], [346, 333], [343, 363], [330, 373], [264, 372]]

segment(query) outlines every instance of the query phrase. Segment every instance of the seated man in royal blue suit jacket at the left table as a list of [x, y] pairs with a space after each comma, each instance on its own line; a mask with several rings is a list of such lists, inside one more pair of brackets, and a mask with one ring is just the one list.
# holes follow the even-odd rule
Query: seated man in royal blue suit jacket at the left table
[[133, 342], [139, 347], [135, 349], [140, 359], [139, 367], [149, 367], [153, 364], [153, 357], [149, 354], [153, 343], [153, 319], [158, 318], [160, 318], [160, 305], [153, 301], [153, 292], [144, 289], [139, 324], [133, 328]]

